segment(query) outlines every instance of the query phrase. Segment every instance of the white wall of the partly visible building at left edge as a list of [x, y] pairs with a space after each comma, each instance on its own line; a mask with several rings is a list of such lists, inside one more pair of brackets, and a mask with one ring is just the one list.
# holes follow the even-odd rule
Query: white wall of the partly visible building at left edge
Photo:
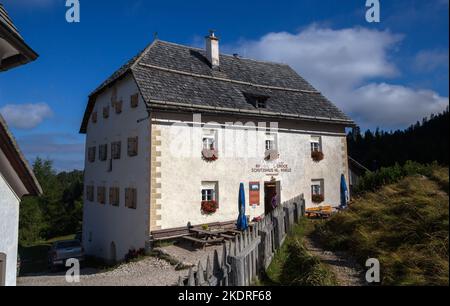
[[0, 173], [0, 253], [6, 254], [6, 286], [16, 285], [19, 203]]

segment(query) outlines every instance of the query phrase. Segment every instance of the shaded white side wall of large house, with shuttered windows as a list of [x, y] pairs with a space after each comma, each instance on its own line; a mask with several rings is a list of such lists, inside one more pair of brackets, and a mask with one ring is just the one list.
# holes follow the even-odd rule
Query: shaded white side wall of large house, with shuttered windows
[[[130, 107], [130, 97], [138, 93], [134, 80], [125, 78], [117, 84], [117, 98], [123, 100], [123, 111], [116, 114], [111, 105], [112, 90], [101, 94], [95, 106], [98, 122], [89, 122], [86, 137], [85, 195], [83, 216], [83, 244], [87, 254], [110, 259], [110, 247], [116, 245], [117, 259], [123, 259], [128, 250], [144, 248], [149, 236], [149, 121], [137, 123], [147, 116], [139, 99], [138, 108]], [[110, 116], [103, 118], [103, 107], [110, 106]], [[135, 157], [127, 154], [128, 137], [139, 137], [139, 152]], [[111, 143], [121, 141], [121, 158], [113, 160], [108, 172]], [[100, 144], [108, 144], [108, 161], [99, 160]], [[87, 158], [89, 147], [96, 146], [96, 160]], [[87, 201], [86, 186], [94, 189], [94, 202]], [[106, 187], [106, 205], [97, 203], [97, 187]], [[120, 188], [120, 205], [109, 205], [109, 187]], [[125, 207], [125, 188], [137, 189], [137, 209]], [[90, 239], [92, 238], [92, 239]]]

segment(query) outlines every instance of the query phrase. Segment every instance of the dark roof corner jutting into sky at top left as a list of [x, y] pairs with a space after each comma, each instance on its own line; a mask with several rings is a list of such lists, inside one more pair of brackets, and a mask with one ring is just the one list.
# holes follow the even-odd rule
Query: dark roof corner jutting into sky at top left
[[0, 3], [0, 71], [24, 65], [37, 57]]

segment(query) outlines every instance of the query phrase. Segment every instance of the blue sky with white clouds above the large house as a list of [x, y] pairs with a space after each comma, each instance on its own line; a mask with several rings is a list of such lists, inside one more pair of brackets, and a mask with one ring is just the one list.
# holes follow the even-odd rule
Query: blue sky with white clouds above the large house
[[203, 46], [216, 29], [227, 53], [290, 64], [362, 128], [397, 129], [448, 105], [448, 0], [0, 0], [40, 57], [0, 74], [0, 112], [25, 155], [83, 168], [78, 134], [88, 94], [153, 40]]

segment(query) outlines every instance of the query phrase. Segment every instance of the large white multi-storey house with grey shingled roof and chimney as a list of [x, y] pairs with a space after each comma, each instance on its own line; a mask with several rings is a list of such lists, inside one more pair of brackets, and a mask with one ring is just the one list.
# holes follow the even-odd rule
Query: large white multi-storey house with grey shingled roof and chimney
[[352, 125], [287, 65], [219, 55], [213, 33], [205, 50], [156, 40], [89, 97], [85, 249], [116, 260], [232, 225], [240, 183], [251, 219], [299, 194], [339, 206]]

